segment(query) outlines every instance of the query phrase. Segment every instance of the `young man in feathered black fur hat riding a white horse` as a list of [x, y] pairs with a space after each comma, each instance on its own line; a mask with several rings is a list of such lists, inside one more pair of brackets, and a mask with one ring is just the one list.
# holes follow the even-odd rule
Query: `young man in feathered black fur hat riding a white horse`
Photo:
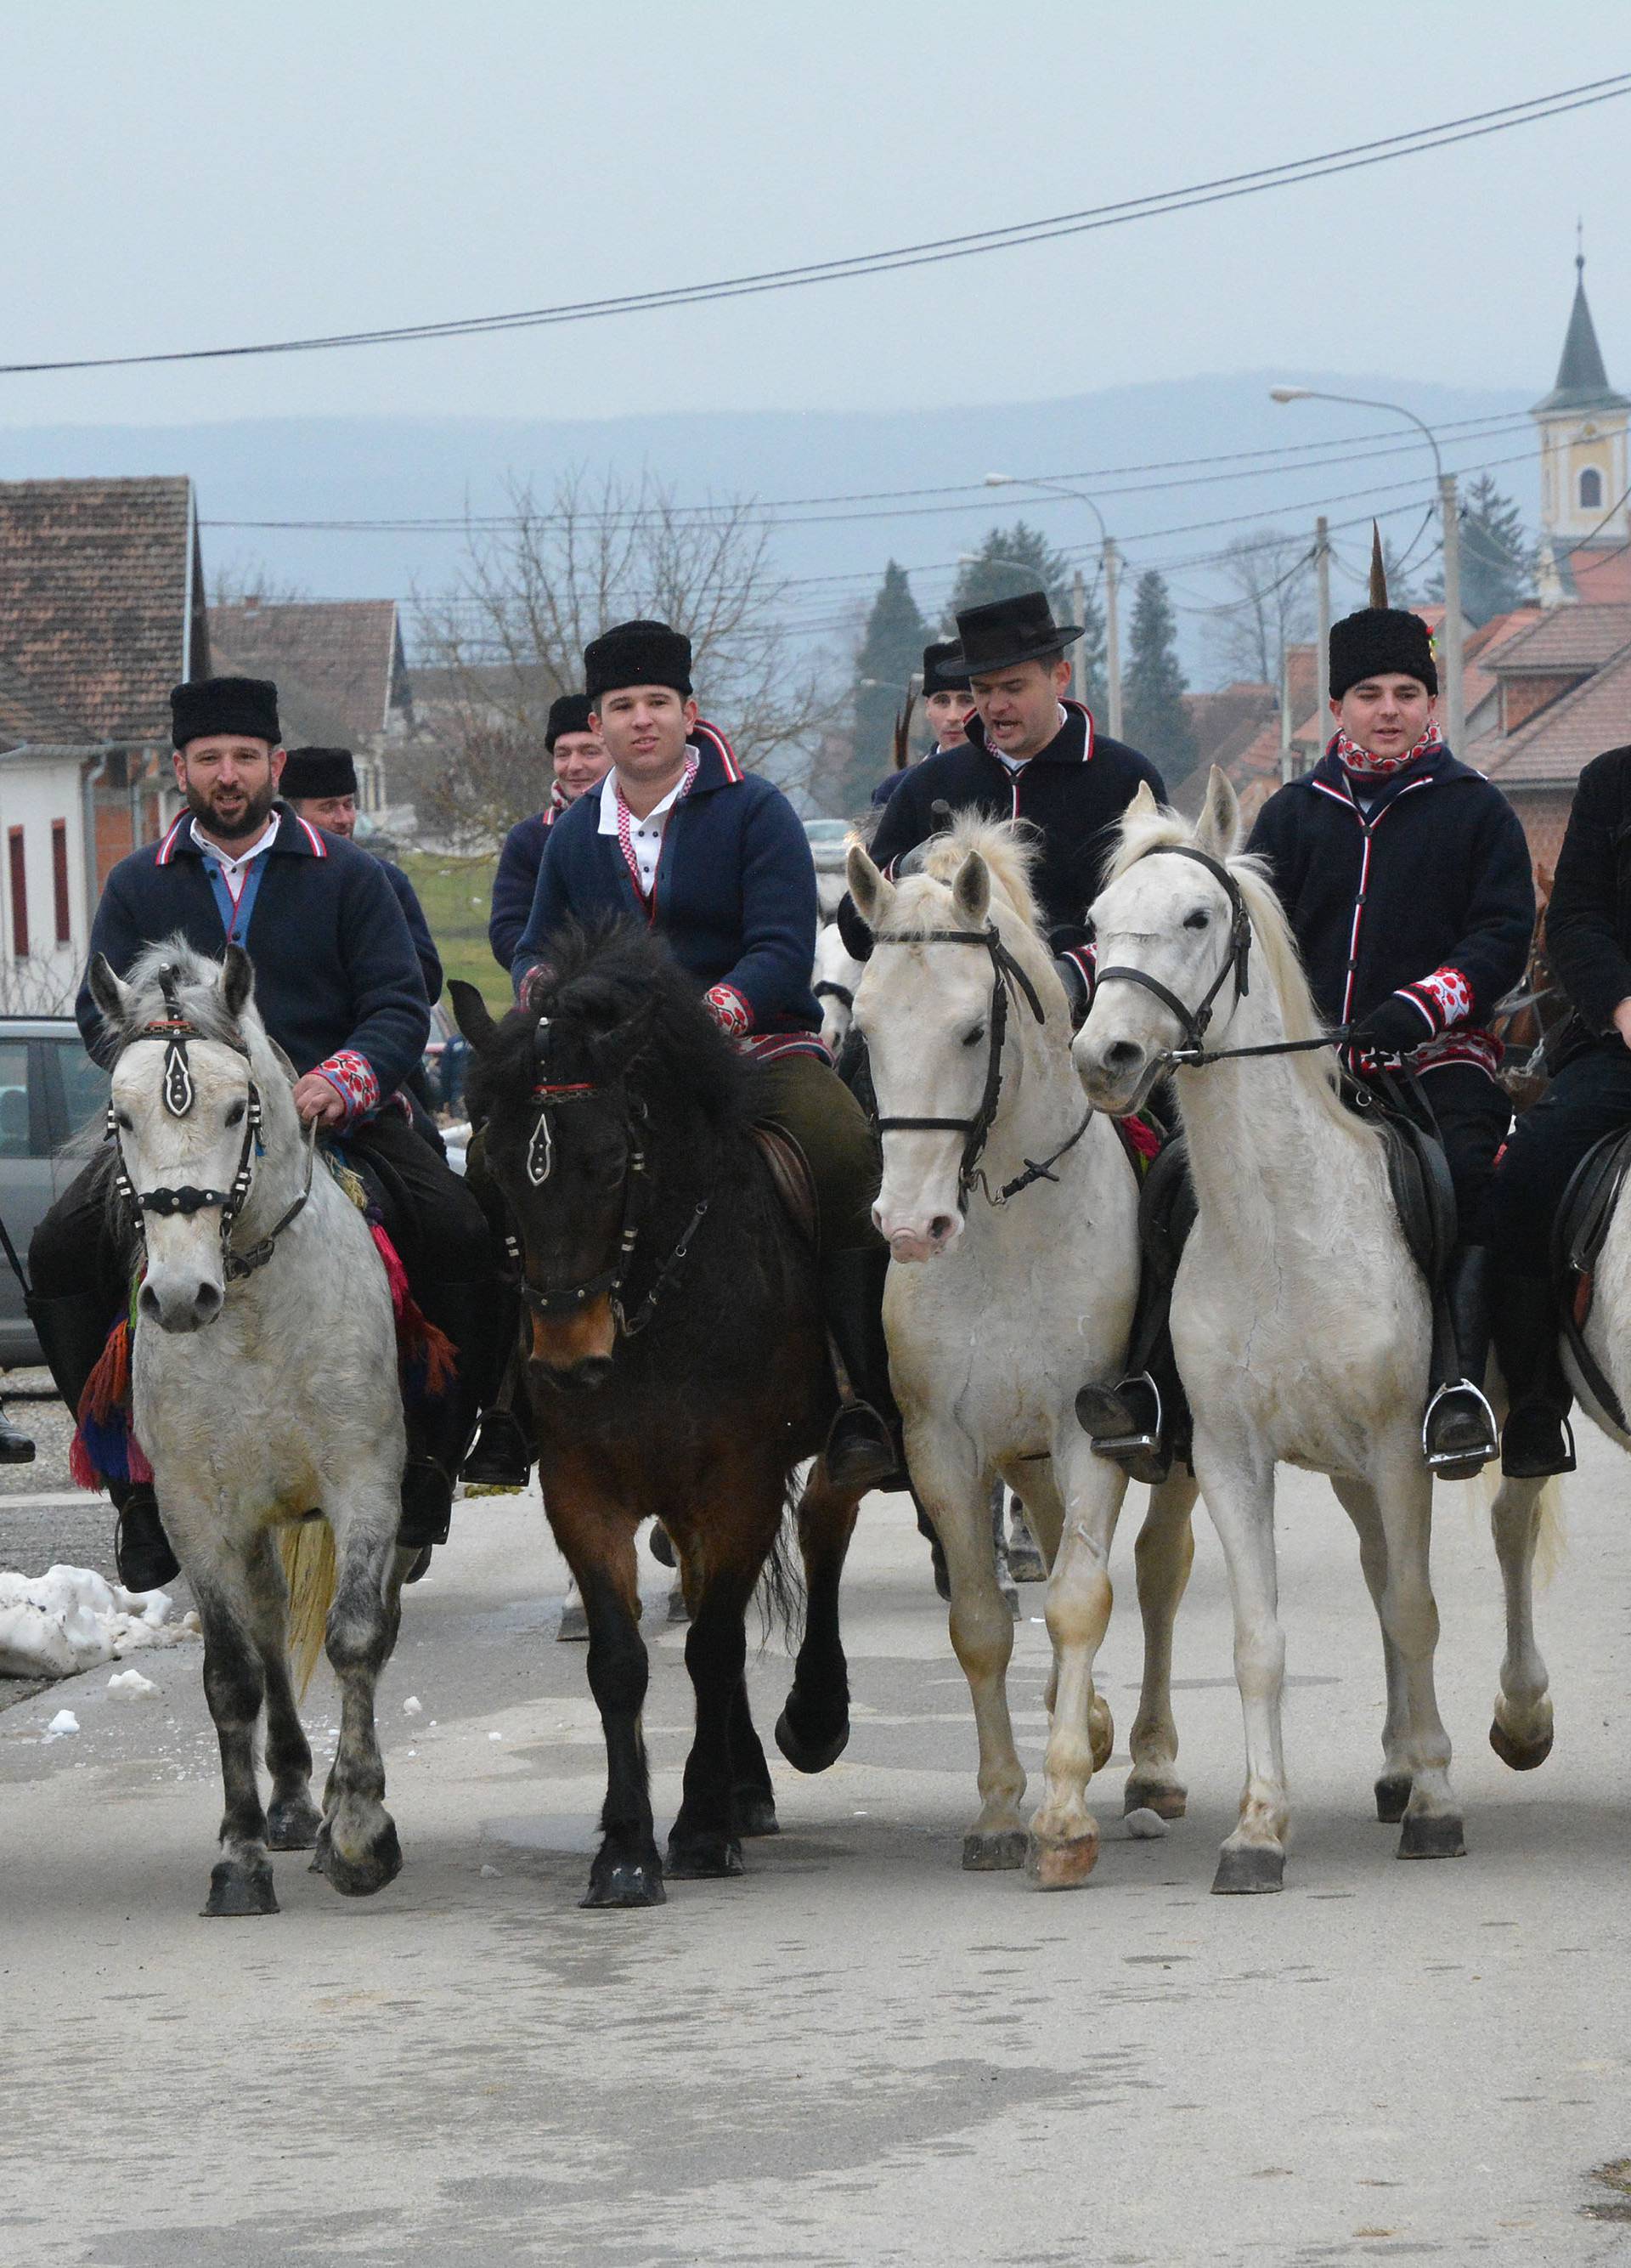
[[[1404, 1061], [1425, 1080], [1456, 1193], [1456, 1250], [1454, 1345], [1434, 1349], [1422, 1445], [1434, 1472], [1465, 1479], [1497, 1447], [1484, 1399], [1486, 1198], [1511, 1105], [1488, 1023], [1522, 978], [1536, 903], [1518, 814], [1438, 730], [1427, 624], [1386, 606], [1377, 565], [1372, 596], [1381, 603], [1332, 626], [1336, 733], [1325, 755], [1268, 798], [1245, 848], [1268, 862], [1320, 1016], [1350, 1034], [1350, 1064]], [[1157, 1340], [1148, 1302], [1164, 1297], [1152, 1279], [1136, 1347]], [[1150, 1370], [1091, 1388], [1080, 1411], [1100, 1452], [1130, 1467], [1171, 1438]]]

